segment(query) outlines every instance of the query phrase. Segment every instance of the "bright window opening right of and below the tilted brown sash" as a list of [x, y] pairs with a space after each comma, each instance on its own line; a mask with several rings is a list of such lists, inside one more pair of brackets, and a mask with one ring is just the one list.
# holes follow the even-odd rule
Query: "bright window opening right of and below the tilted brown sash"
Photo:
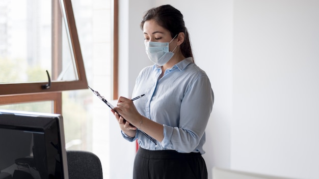
[[[88, 84], [106, 99], [112, 100], [111, 1], [71, 2]], [[71, 150], [91, 151], [99, 156], [103, 177], [109, 178], [109, 123], [115, 120], [110, 118], [110, 108], [89, 89], [65, 91], [62, 100], [63, 117], [67, 119], [64, 122], [67, 146]]]

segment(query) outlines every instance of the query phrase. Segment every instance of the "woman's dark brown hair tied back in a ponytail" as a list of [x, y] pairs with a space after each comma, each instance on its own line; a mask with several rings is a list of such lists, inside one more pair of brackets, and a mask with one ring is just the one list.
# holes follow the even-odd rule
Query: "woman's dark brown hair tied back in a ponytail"
[[178, 33], [184, 33], [184, 42], [180, 45], [181, 53], [185, 57], [193, 57], [189, 33], [187, 31], [187, 28], [185, 27], [183, 15], [180, 13], [179, 10], [175, 9], [171, 5], [163, 5], [157, 8], [152, 8], [148, 10], [143, 16], [141, 28], [143, 29], [145, 21], [151, 19], [155, 20], [158, 25], [161, 25], [162, 27], [168, 29], [168, 31], [170, 31], [171, 33], [172, 38], [174, 38]]

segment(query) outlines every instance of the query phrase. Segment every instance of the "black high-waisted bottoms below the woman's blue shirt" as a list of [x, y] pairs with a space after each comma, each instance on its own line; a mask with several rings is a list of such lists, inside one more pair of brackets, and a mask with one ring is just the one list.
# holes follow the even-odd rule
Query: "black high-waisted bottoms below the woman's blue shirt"
[[135, 156], [134, 179], [206, 179], [206, 163], [200, 153], [148, 151], [142, 147]]

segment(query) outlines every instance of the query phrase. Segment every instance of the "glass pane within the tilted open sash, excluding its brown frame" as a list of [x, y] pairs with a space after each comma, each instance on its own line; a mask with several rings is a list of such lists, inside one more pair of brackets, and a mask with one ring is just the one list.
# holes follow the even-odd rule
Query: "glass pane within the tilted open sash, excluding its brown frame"
[[[47, 81], [46, 70], [52, 81], [78, 80], [63, 6], [58, 5], [0, 1], [0, 84]], [[56, 15], [52, 6], [60, 9]]]

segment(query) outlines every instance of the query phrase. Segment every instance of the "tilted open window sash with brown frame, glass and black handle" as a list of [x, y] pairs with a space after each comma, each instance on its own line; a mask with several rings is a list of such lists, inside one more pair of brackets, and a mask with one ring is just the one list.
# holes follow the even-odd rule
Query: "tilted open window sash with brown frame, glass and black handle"
[[[0, 95], [87, 87], [70, 0], [2, 1], [0, 6]], [[43, 89], [46, 70], [52, 84]]]

